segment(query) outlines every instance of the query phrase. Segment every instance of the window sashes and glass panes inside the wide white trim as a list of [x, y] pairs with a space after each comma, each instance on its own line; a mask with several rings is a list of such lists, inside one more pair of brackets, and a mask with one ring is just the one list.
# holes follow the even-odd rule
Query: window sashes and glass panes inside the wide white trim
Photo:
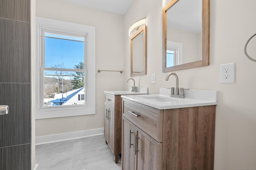
[[41, 31], [43, 107], [86, 105], [85, 98], [84, 102], [77, 99], [86, 94], [86, 35]]

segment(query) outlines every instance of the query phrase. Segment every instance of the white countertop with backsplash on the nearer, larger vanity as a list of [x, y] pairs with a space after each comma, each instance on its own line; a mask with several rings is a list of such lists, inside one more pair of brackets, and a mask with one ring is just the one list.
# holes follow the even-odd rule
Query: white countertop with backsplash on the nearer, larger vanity
[[[167, 89], [167, 88], [166, 88]], [[166, 91], [161, 90], [160, 92]], [[169, 91], [169, 90], [167, 90]], [[138, 102], [156, 109], [174, 109], [183, 107], [217, 105], [216, 90], [186, 90], [185, 98], [170, 97], [169, 94], [125, 95], [122, 98]], [[187, 97], [186, 97], [187, 96]]]

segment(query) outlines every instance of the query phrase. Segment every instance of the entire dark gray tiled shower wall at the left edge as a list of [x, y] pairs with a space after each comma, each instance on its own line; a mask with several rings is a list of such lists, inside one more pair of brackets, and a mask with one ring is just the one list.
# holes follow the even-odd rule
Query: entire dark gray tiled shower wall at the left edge
[[30, 0], [0, 0], [0, 170], [31, 170]]

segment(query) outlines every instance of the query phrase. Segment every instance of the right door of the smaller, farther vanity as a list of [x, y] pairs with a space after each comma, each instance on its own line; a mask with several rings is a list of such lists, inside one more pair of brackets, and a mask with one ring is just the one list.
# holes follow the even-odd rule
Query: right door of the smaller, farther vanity
[[109, 139], [108, 139], [108, 145], [110, 147], [110, 150], [114, 154], [114, 109], [112, 107], [108, 107], [108, 123], [109, 123]]

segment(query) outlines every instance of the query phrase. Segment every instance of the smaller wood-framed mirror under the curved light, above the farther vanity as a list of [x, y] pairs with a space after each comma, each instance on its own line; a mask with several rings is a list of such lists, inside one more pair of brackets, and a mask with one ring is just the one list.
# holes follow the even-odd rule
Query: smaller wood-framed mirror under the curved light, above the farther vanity
[[131, 76], [146, 74], [146, 25], [130, 38]]

